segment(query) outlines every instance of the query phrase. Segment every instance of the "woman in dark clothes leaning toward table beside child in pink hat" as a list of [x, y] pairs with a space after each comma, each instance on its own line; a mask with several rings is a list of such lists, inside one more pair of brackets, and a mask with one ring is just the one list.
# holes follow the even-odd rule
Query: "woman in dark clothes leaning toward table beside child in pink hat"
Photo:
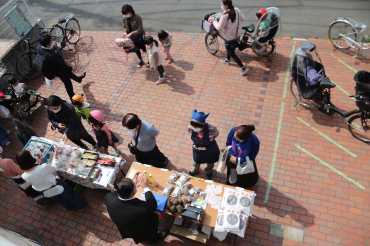
[[72, 105], [61, 100], [58, 96], [49, 96], [47, 105], [47, 119], [54, 128], [57, 128], [63, 134], [62, 139], [64, 141], [69, 139], [79, 147], [87, 149], [87, 146], [82, 143], [82, 139], [93, 146], [93, 151], [97, 151], [95, 140], [83, 127], [81, 119]]

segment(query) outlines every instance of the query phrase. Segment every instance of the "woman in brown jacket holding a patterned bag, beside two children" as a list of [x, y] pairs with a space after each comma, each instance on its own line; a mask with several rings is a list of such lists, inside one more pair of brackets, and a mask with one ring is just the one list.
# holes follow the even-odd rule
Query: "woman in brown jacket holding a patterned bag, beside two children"
[[137, 68], [141, 68], [144, 65], [144, 61], [142, 60], [140, 49], [142, 49], [142, 52], [146, 52], [144, 44], [145, 31], [142, 28], [141, 17], [137, 15], [132, 6], [128, 4], [122, 6], [121, 12], [123, 14], [123, 37], [130, 37], [135, 43], [136, 47], [133, 50], [135, 50], [134, 52], [136, 52], [137, 57], [140, 59], [139, 63], [137, 63]]

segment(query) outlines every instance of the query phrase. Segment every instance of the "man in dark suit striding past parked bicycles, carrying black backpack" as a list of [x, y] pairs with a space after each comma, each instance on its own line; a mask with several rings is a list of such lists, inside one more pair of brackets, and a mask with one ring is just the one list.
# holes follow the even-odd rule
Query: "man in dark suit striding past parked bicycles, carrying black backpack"
[[52, 50], [52, 37], [49, 34], [42, 34], [40, 36], [39, 42], [41, 45], [37, 47], [37, 52], [40, 55], [44, 55], [45, 52], [49, 53], [45, 57], [47, 62], [47, 69], [52, 69], [55, 76], [59, 77], [64, 83], [65, 90], [68, 93], [69, 98], [74, 96], [73, 85], [70, 79], [81, 83], [82, 79], [86, 76], [86, 72], [82, 73], [81, 76], [75, 75], [73, 72], [75, 69], [71, 66], [68, 66], [63, 57], [59, 55], [55, 50]]

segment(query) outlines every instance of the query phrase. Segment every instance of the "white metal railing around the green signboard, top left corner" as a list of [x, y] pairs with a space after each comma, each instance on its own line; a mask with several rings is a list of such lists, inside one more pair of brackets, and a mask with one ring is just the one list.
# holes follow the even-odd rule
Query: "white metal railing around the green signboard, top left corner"
[[33, 13], [31, 4], [28, 0], [9, 0], [0, 7], [0, 58], [2, 58], [20, 39], [9, 22], [4, 16], [13, 8], [17, 6], [24, 17], [33, 27], [39, 21], [38, 17]]

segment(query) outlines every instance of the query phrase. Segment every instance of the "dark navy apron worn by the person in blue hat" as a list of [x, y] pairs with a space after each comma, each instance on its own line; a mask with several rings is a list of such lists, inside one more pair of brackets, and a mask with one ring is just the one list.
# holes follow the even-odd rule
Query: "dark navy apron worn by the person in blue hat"
[[191, 130], [191, 140], [193, 142], [192, 158], [195, 163], [202, 164], [218, 162], [219, 148], [215, 140], [209, 141], [208, 124], [204, 125], [204, 134], [202, 139], [198, 139], [196, 132]]

